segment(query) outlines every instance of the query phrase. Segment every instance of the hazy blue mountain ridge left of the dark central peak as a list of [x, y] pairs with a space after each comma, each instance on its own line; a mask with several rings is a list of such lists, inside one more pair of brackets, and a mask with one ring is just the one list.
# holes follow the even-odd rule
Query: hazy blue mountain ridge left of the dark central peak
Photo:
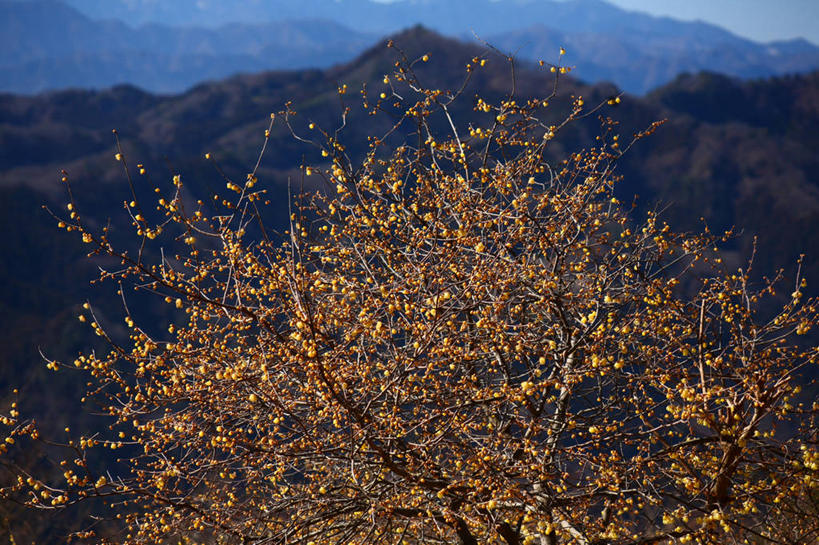
[[326, 68], [377, 34], [328, 20], [230, 23], [218, 29], [95, 21], [57, 0], [0, 0], [0, 90], [33, 93], [131, 83], [178, 93], [240, 72]]

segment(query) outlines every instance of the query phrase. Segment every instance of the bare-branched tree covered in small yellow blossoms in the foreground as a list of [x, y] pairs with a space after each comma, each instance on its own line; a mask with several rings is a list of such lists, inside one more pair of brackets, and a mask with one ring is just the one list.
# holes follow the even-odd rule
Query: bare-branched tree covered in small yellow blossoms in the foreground
[[[799, 390], [817, 307], [801, 279], [772, 312], [777, 279], [724, 270], [724, 235], [631, 214], [617, 160], [655, 126], [621, 138], [605, 115], [619, 97], [572, 97], [546, 121], [554, 92], [470, 95], [481, 58], [460, 90], [428, 89], [413, 69], [427, 60], [399, 55], [365, 96], [393, 122], [363, 158], [345, 151], [346, 112], [335, 130], [271, 116], [313, 146], [301, 175], [323, 182], [293, 195], [286, 233], [265, 226], [255, 170], [208, 201], [179, 176], [150, 203], [134, 189], [130, 249], [72, 197], [61, 226], [105, 256], [128, 335], [89, 306], [110, 350], [67, 366], [112, 425], [64, 445], [60, 482], [21, 475], [3, 493], [101, 498], [133, 544], [816, 539], [819, 407]], [[485, 123], [453, 119], [456, 100]], [[555, 159], [591, 115], [598, 140]], [[140, 168], [117, 160], [134, 188]], [[140, 325], [131, 287], [179, 319]], [[7, 443], [39, 439], [13, 410], [4, 423]], [[123, 463], [95, 473], [95, 448]]]

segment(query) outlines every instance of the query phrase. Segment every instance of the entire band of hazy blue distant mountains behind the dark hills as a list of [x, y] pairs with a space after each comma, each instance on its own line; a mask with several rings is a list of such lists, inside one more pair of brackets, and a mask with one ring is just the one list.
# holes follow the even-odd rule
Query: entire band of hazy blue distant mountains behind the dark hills
[[[819, 47], [806, 40], [760, 44], [602, 0], [253, 0], [241, 8], [203, 0], [0, 0], [0, 90], [129, 83], [181, 92], [240, 72], [326, 68], [414, 23], [524, 60], [559, 60], [584, 81], [611, 81], [635, 94], [700, 70], [759, 78], [819, 68]], [[567, 54], [558, 59], [561, 47]]]

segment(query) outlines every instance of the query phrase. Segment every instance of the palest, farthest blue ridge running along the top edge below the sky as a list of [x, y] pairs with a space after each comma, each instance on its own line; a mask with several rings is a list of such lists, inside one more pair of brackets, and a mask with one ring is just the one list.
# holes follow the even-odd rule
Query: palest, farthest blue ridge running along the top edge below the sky
[[[220, 26], [225, 22], [283, 21], [322, 13], [351, 28], [395, 32], [419, 23], [445, 34], [517, 30], [532, 23], [565, 32], [660, 32], [705, 40], [734, 36], [708, 23], [627, 11], [604, 0], [66, 0], [90, 16], [139, 25]], [[734, 36], [736, 38], [736, 36]]]

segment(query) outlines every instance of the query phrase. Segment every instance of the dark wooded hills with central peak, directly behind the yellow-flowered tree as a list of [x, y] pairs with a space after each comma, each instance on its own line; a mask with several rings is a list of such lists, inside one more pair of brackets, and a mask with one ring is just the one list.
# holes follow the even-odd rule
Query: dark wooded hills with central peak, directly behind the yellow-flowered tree
[[[156, 198], [154, 187], [170, 190], [174, 174], [181, 174], [191, 198], [205, 198], [223, 192], [225, 181], [203, 155], [210, 152], [228, 176], [243, 180], [258, 157], [269, 114], [289, 100], [298, 111], [293, 129], [305, 138], [314, 134], [308, 128], [311, 122], [338, 127], [342, 109], [349, 106], [342, 141], [351, 155], [360, 157], [367, 136], [385, 132], [390, 120], [368, 116], [358, 90], [366, 85], [376, 95], [385, 89], [382, 80], [392, 71], [397, 50], [409, 59], [429, 56], [429, 62], [416, 67], [430, 87], [456, 88], [470, 59], [487, 59], [452, 107], [461, 128], [485, 121], [473, 109], [477, 93], [492, 100], [512, 89], [505, 57], [479, 44], [422, 27], [393, 40], [396, 48], [381, 42], [344, 65], [241, 75], [177, 95], [151, 94], [128, 85], [0, 95], [0, 392], [12, 384], [20, 387], [23, 409], [44, 414], [46, 422], [61, 429], [72, 410], [68, 400], [83, 387], [82, 377], [57, 379], [64, 381], [60, 384], [66, 395], [49, 394], [44, 400], [42, 384], [55, 379], [46, 377], [40, 350], [49, 357], [70, 358], [88, 346], [89, 332], [75, 318], [85, 298], [95, 301], [103, 319], [121, 321], [119, 299], [112, 297], [116, 286], [89, 289], [95, 263], [84, 259], [83, 245], [58, 230], [56, 220], [42, 209], [64, 210], [60, 177], [65, 169], [88, 221], [110, 220], [112, 237], [130, 231], [122, 211], [130, 193], [123, 163], [114, 159], [112, 129], [122, 139], [126, 163], [131, 168], [145, 165], [147, 174], [137, 176], [136, 183], [146, 198]], [[521, 101], [549, 94], [555, 83], [548, 68], [519, 66], [515, 74]], [[571, 96], [582, 95], [595, 105], [620, 93], [611, 84], [562, 76], [557, 83], [558, 95], [545, 113], [555, 119]], [[339, 97], [344, 84], [349, 91]], [[618, 191], [627, 202], [639, 195], [637, 214], [662, 209], [663, 217], [679, 229], [699, 229], [701, 218], [714, 231], [735, 226], [739, 235], [729, 242], [726, 254], [735, 266], [746, 263], [757, 236], [757, 276], [773, 275], [779, 267], [792, 275], [798, 256], [806, 253], [807, 291], [815, 293], [819, 73], [753, 81], [713, 73], [685, 75], [645, 97], [622, 96], [619, 105], [606, 105], [601, 113], [620, 123], [626, 139], [653, 121], [668, 120], [618, 165], [623, 175]], [[599, 130], [596, 116], [572, 125], [558, 136], [554, 160], [593, 145]], [[312, 153], [286, 127], [274, 126], [259, 170], [260, 186], [268, 189], [271, 201], [268, 225], [286, 225], [288, 179], [298, 181], [302, 161], [319, 160]], [[134, 313], [138, 316], [140, 310]]]

